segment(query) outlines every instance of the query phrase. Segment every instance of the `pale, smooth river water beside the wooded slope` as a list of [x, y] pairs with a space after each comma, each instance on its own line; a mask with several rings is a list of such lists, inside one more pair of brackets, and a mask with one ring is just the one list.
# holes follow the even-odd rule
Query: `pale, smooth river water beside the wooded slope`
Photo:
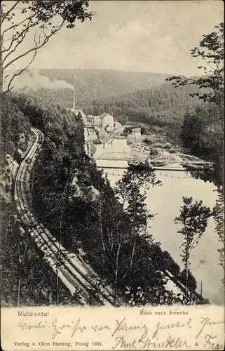
[[[102, 145], [97, 145], [94, 157], [107, 152], [130, 152], [130, 146], [126, 140], [114, 140], [111, 145], [106, 145], [104, 150]], [[111, 166], [127, 164], [127, 161], [104, 161], [104, 164]], [[102, 161], [97, 160], [97, 165], [101, 166]], [[177, 172], [178, 173], [178, 172]], [[117, 174], [115, 172], [115, 174]], [[167, 250], [172, 258], [183, 269], [184, 265], [180, 258], [182, 235], [177, 233], [179, 225], [173, 220], [179, 215], [179, 207], [182, 206], [182, 197], [193, 197], [194, 200], [203, 200], [203, 205], [212, 208], [217, 199], [217, 192], [212, 183], [204, 182], [200, 179], [191, 178], [187, 173], [179, 172], [179, 178], [172, 173], [166, 175], [165, 172], [156, 171], [157, 178], [163, 183], [162, 186], [151, 187], [147, 190], [146, 205], [151, 213], [157, 213], [150, 221], [149, 232], [153, 234], [156, 241], [161, 242], [163, 250]], [[173, 176], [173, 178], [172, 178]], [[111, 185], [121, 178], [118, 175], [108, 174]], [[219, 265], [219, 249], [217, 234], [214, 231], [214, 220], [210, 218], [207, 230], [200, 239], [198, 246], [191, 252], [191, 272], [196, 278], [200, 292], [200, 282], [203, 282], [203, 296], [209, 298], [210, 303], [221, 305], [224, 303], [224, 286], [221, 279], [224, 271]]]

